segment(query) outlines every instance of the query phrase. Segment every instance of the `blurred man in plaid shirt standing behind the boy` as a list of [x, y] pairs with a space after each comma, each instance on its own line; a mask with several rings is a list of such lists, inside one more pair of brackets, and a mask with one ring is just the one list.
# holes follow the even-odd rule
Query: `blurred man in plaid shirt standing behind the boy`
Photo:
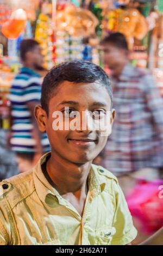
[[123, 188], [132, 184], [132, 179], [121, 180], [124, 177], [159, 177], [158, 170], [163, 167], [163, 100], [149, 71], [129, 63], [123, 34], [106, 37], [102, 47], [104, 62], [111, 70], [116, 109], [102, 166], [124, 181], [120, 182]]

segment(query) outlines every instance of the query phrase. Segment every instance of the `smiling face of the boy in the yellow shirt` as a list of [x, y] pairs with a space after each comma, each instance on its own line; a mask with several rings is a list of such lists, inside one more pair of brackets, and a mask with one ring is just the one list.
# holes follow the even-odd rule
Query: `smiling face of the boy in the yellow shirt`
[[[95, 159], [104, 148], [108, 136], [101, 136], [100, 130], [91, 129], [89, 125], [90, 114], [95, 114], [94, 119], [104, 118], [110, 112], [111, 100], [108, 91], [99, 83], [75, 84], [62, 82], [56, 94], [49, 101], [48, 117], [39, 106], [35, 109], [40, 130], [47, 132], [52, 153], [58, 154], [62, 159], [73, 163], [85, 163]], [[69, 108], [69, 110], [66, 110]], [[63, 115], [62, 124], [71, 123], [73, 114], [80, 114], [80, 125], [86, 129], [61, 129], [54, 130], [59, 111]], [[115, 111], [112, 110], [109, 125], [112, 125]], [[55, 117], [54, 117], [55, 116]], [[86, 121], [87, 120], [87, 121]], [[98, 122], [98, 120], [96, 121]], [[65, 126], [64, 126], [65, 127]]]

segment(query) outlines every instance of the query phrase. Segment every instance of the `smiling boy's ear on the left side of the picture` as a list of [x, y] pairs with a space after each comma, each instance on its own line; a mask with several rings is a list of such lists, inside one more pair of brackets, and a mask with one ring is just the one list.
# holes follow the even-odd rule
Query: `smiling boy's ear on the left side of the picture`
[[46, 121], [47, 121], [47, 114], [46, 111], [39, 105], [35, 107], [34, 110], [35, 118], [37, 120], [37, 124], [39, 126], [39, 130], [41, 132], [46, 131]]

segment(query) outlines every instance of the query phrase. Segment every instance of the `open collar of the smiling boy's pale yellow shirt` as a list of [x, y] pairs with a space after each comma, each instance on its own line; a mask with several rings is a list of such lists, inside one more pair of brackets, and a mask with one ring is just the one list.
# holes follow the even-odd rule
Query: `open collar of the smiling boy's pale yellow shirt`
[[[43, 162], [46, 161], [46, 157], [49, 154], [51, 153], [49, 152], [43, 155], [33, 169], [33, 179], [34, 179], [34, 184], [36, 188], [36, 193], [43, 203], [46, 202], [46, 197], [49, 194], [57, 197], [58, 200], [60, 200], [61, 198], [58, 191], [55, 190], [55, 188], [52, 187], [51, 184], [49, 184], [49, 182], [45, 178], [45, 175], [42, 173], [41, 165]], [[101, 193], [104, 190], [105, 183], [106, 183], [105, 177], [98, 174], [97, 169], [98, 169], [98, 166], [95, 166], [95, 164], [91, 164], [91, 169], [89, 173], [89, 191], [93, 191], [94, 196], [96, 196], [96, 194]]]

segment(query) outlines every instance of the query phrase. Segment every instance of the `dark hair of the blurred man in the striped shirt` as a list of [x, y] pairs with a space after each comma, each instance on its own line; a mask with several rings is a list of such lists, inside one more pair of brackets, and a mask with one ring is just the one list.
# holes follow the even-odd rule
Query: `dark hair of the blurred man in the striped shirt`
[[37, 45], [39, 45], [39, 42], [34, 39], [23, 39], [20, 43], [21, 60], [26, 60], [26, 53], [33, 51]]

